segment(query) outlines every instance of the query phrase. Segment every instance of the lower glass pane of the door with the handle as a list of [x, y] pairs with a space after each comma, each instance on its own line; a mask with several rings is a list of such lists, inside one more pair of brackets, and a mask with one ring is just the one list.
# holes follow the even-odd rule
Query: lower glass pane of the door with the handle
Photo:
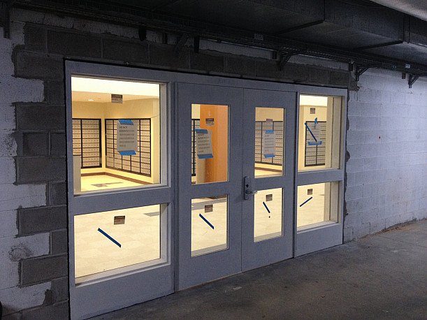
[[254, 242], [282, 235], [282, 189], [258, 191], [254, 196]]

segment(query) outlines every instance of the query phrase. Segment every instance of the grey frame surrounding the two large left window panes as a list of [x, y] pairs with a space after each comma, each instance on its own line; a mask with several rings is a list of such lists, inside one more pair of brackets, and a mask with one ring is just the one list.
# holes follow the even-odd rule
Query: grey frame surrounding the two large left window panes
[[[171, 103], [173, 94], [171, 84], [147, 73], [144, 69], [124, 66], [90, 64], [80, 61], [65, 62], [66, 79], [66, 134], [67, 134], [67, 172], [68, 172], [68, 253], [69, 288], [71, 319], [85, 319], [122, 307], [141, 303], [164, 296], [174, 291], [174, 252], [173, 252], [173, 212], [175, 192], [171, 177], [175, 174], [172, 159], [175, 157], [173, 135], [174, 124], [171, 115], [175, 111]], [[161, 128], [161, 175], [160, 184], [146, 185], [129, 189], [107, 189], [101, 192], [73, 194], [73, 145], [72, 145], [72, 99], [71, 76], [82, 75], [94, 78], [113, 78], [159, 83]], [[154, 75], [154, 76], [153, 76]], [[155, 261], [147, 261], [133, 266], [100, 272], [94, 279], [75, 284], [75, 246], [74, 217], [80, 214], [135, 208], [145, 205], [161, 204], [163, 213], [161, 225], [161, 256]], [[165, 205], [168, 204], [168, 205]], [[95, 228], [96, 230], [96, 228]], [[119, 289], [120, 288], [120, 289]]]

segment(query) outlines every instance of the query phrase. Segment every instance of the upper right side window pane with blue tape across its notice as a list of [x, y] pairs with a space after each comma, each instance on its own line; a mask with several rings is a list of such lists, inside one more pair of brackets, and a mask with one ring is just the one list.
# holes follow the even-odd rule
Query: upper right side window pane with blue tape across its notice
[[341, 97], [300, 96], [298, 170], [340, 168]]

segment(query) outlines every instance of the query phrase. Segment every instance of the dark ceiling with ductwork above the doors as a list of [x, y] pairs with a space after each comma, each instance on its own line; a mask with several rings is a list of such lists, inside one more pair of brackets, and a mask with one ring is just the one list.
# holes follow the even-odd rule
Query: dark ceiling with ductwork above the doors
[[[13, 3], [92, 15], [92, 18], [133, 21], [147, 29], [270, 48], [284, 59], [302, 53], [427, 74], [427, 1], [373, 1], [15, 0]], [[388, 3], [392, 8], [379, 3]]]

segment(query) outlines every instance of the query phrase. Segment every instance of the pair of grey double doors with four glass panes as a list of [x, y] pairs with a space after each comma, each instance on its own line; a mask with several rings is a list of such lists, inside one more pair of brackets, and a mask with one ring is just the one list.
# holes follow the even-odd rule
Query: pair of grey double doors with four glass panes
[[177, 288], [291, 257], [296, 94], [177, 89]]

